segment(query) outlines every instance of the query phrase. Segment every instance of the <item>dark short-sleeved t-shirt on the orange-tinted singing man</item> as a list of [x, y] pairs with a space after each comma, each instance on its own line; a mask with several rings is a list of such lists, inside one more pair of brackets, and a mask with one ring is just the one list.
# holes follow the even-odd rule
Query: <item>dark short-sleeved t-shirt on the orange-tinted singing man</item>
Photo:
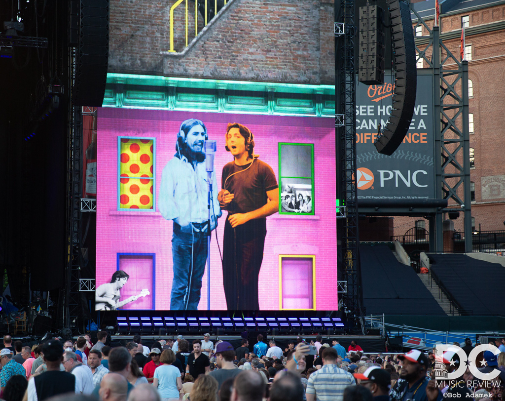
[[230, 214], [247, 213], [265, 206], [267, 191], [279, 188], [274, 170], [260, 159], [244, 166], [237, 166], [234, 161], [227, 163], [221, 183], [223, 189], [234, 195], [226, 208]]

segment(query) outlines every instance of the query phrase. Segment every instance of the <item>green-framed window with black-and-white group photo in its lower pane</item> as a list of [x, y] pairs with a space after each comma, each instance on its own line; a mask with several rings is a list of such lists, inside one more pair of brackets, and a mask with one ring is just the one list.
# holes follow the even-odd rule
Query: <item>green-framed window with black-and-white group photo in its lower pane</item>
[[[279, 214], [314, 215], [314, 144], [279, 142], [278, 150]], [[300, 194], [304, 206], [291, 209], [285, 197], [294, 195], [295, 203], [298, 203]]]

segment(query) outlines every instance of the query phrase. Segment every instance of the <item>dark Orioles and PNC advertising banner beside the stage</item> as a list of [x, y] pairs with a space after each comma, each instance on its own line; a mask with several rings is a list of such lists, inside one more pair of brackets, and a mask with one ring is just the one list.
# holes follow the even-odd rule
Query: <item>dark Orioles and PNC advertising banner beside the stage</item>
[[356, 85], [356, 153], [358, 199], [422, 200], [435, 198], [433, 84], [418, 75], [417, 99], [407, 136], [386, 156], [374, 141], [392, 109], [394, 79], [386, 72], [383, 85]]

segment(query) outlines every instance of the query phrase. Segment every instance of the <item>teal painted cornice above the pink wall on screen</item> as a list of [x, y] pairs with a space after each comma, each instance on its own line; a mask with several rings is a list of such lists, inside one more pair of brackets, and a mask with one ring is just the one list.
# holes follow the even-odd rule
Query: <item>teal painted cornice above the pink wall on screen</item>
[[334, 118], [335, 87], [113, 73], [103, 106]]

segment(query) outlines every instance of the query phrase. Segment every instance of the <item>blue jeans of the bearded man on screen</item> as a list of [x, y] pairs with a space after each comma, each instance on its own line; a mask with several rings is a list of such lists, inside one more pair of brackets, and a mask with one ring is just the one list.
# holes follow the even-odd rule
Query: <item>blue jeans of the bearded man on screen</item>
[[[200, 225], [193, 225], [199, 229]], [[207, 230], [191, 226], [181, 228], [174, 222], [172, 257], [174, 279], [170, 300], [171, 310], [195, 310], [200, 301], [201, 278], [207, 261]], [[187, 305], [187, 306], [186, 306]]]

